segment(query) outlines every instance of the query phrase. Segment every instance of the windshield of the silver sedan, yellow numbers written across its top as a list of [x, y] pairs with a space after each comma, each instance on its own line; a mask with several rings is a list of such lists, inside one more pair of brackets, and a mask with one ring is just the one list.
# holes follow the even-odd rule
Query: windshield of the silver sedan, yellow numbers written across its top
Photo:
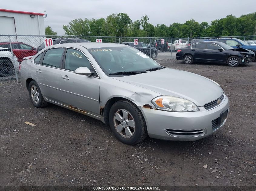
[[87, 49], [106, 75], [115, 72], [146, 71], [161, 67], [133, 47], [118, 46]]

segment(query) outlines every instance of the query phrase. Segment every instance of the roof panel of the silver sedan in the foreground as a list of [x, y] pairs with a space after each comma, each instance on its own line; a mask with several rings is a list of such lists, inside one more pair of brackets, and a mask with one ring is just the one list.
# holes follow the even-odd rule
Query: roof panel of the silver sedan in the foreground
[[71, 47], [72, 45], [83, 46], [86, 49], [128, 46], [125, 44], [118, 44], [118, 43], [63, 43], [63, 44], [55, 44], [55, 45], [49, 46], [49, 48], [63, 47], [63, 46]]

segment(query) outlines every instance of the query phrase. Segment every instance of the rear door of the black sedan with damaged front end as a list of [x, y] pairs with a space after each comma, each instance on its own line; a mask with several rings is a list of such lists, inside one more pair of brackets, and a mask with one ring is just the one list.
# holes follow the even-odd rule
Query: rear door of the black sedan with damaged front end
[[194, 61], [206, 60], [206, 43], [195, 43], [191, 45], [191, 53]]

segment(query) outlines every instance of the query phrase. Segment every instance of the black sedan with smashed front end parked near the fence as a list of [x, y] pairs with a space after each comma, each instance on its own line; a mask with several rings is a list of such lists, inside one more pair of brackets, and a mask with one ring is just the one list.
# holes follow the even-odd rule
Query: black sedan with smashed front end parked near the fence
[[250, 63], [251, 53], [243, 48], [234, 49], [225, 43], [205, 41], [178, 49], [176, 59], [183, 60], [185, 64], [205, 62], [238, 66]]

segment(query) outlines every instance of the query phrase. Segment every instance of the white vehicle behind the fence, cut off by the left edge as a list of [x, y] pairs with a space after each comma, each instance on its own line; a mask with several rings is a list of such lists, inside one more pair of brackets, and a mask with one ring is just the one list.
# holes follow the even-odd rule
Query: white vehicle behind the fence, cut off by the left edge
[[12, 75], [14, 66], [16, 71], [18, 71], [18, 68], [19, 68], [18, 58], [14, 56], [14, 64], [13, 64], [11, 49], [0, 47], [0, 77]]

